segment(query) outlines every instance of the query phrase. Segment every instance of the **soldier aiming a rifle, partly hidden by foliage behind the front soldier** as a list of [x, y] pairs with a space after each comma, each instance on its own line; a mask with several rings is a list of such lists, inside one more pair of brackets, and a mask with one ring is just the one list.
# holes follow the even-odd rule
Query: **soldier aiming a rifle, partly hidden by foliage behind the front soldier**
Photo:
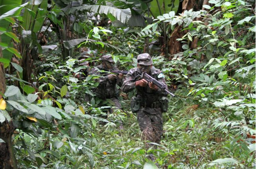
[[[115, 103], [115, 107], [121, 109], [121, 104], [119, 103], [118, 96], [119, 90], [117, 89], [117, 85], [121, 87], [123, 81], [123, 74], [119, 74], [118, 76], [115, 74], [107, 74], [106, 72], [101, 73], [99, 70], [109, 71], [109, 70], [118, 70], [113, 66], [114, 60], [111, 55], [103, 55], [101, 57], [102, 64], [93, 68], [90, 74], [101, 75], [103, 77], [97, 79], [99, 85], [94, 89], [94, 93], [102, 100], [111, 99]], [[113, 113], [115, 109], [110, 109], [110, 113]], [[120, 122], [121, 123], [121, 122]], [[122, 129], [122, 124], [120, 124], [120, 128]]]

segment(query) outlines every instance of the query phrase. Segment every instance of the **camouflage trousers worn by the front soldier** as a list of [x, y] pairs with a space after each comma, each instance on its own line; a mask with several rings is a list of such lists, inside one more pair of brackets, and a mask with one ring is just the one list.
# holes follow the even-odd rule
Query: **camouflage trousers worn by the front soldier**
[[[163, 115], [155, 108], [141, 108], [137, 111], [137, 120], [145, 141], [159, 143], [163, 134]], [[146, 144], [146, 149], [154, 146]], [[155, 147], [155, 146], [154, 146]]]

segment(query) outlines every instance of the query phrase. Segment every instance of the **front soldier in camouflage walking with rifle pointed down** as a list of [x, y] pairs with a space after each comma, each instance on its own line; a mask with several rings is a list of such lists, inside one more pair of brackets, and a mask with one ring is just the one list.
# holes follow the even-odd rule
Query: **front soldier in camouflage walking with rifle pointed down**
[[[137, 90], [136, 97], [132, 97], [131, 99], [131, 110], [137, 113], [137, 121], [142, 131], [143, 139], [159, 143], [163, 133], [161, 99], [165, 95], [165, 92], [152, 82], [148, 83], [146, 80], [141, 79], [137, 73], [146, 72], [157, 81], [165, 84], [167, 89], [163, 73], [161, 70], [152, 66], [152, 64], [153, 61], [149, 54], [138, 55], [137, 68], [129, 70], [121, 89], [125, 93], [133, 89]], [[146, 149], [149, 146], [149, 144], [146, 144]]]

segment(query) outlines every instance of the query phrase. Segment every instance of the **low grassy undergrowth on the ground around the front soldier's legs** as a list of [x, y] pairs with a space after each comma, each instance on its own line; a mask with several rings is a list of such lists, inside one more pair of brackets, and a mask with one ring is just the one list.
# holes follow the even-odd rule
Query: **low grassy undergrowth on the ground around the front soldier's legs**
[[[222, 147], [226, 144], [225, 135], [211, 129], [206, 120], [208, 110], [198, 108], [198, 105], [164, 113], [161, 143], [157, 149], [148, 151], [145, 150], [136, 115], [124, 112], [108, 115], [108, 120], [116, 126], [99, 122], [93, 129], [90, 146], [93, 152], [97, 152], [95, 168], [140, 169], [151, 153], [162, 169], [216, 168], [208, 163], [228, 155]], [[124, 129], [119, 128], [119, 119], [123, 119]]]

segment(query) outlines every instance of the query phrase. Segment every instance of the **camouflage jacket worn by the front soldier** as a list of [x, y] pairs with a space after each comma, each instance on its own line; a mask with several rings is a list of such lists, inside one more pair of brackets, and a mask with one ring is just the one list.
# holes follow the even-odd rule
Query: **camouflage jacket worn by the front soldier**
[[[165, 95], [164, 91], [162, 91], [160, 88], [158, 88], [157, 91], [154, 91], [154, 90], [150, 89], [149, 85], [147, 85], [147, 87], [135, 86], [135, 82], [138, 80], [141, 80], [140, 79], [141, 77], [137, 76], [138, 73], [136, 70], [139, 71], [138, 68], [132, 68], [131, 70], [129, 70], [129, 72], [126, 75], [126, 78], [123, 82], [123, 85], [121, 88], [122, 91], [127, 93], [136, 88], [137, 89], [136, 96], [142, 97], [143, 103], [145, 105], [144, 107], [148, 107], [148, 105], [151, 105], [153, 102], [158, 103], [159, 99]], [[166, 89], [168, 90], [166, 82], [165, 82], [165, 77], [163, 75], [163, 72], [161, 72], [161, 70], [156, 69], [154, 66], [152, 66], [149, 75], [151, 77], [155, 78], [158, 82], [165, 84]]]

